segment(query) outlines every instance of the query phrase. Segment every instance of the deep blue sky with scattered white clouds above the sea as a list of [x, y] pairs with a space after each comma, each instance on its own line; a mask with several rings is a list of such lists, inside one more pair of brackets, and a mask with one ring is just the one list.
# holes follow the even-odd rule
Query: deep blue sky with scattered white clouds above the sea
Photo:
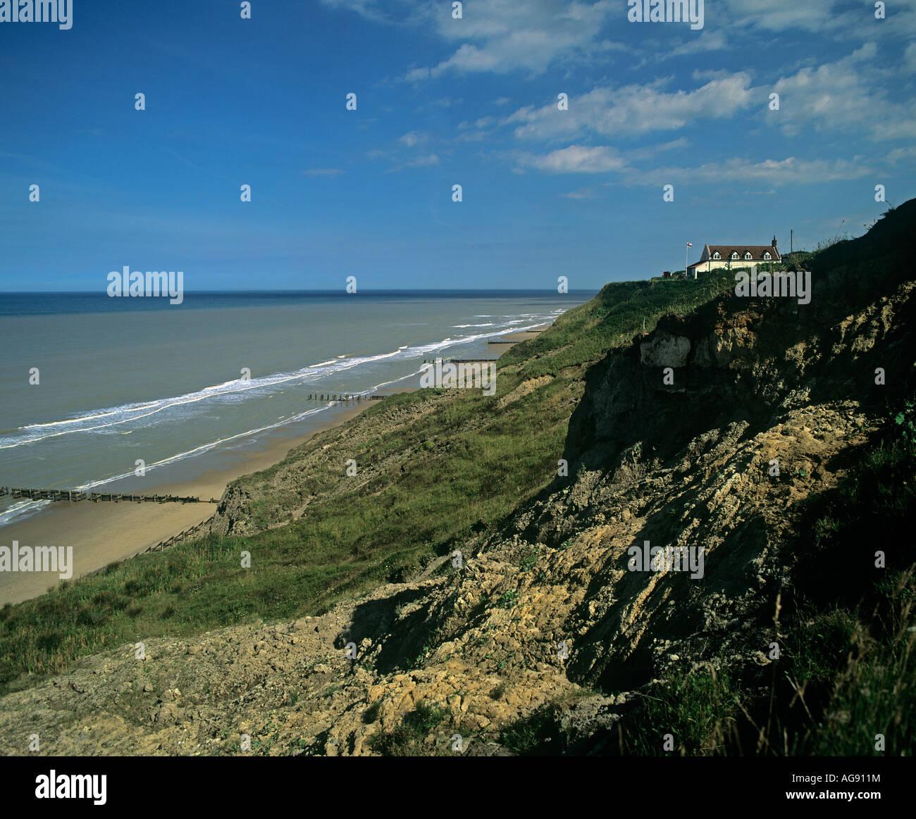
[[0, 22], [0, 289], [589, 289], [916, 195], [911, 2], [706, 0], [699, 30], [626, 0], [239, 9]]

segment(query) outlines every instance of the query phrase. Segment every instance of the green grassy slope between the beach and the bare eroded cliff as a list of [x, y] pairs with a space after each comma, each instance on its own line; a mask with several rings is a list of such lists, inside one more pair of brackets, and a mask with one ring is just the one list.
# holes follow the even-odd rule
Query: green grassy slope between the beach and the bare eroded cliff
[[[297, 491], [259, 498], [276, 467], [242, 479], [256, 496], [255, 520], [265, 527], [289, 521], [303, 496], [321, 499], [322, 491], [339, 489], [347, 458], [364, 472], [379, 470], [359, 492], [313, 501], [296, 523], [141, 555], [0, 609], [0, 690], [34, 682], [22, 674], [54, 674], [117, 645], [322, 613], [339, 598], [409, 577], [434, 555], [461, 548], [472, 526], [479, 531], [504, 518], [551, 482], [589, 365], [653, 329], [663, 314], [688, 313], [732, 285], [727, 275], [607, 285], [537, 339], [508, 350], [496, 396], [447, 390], [391, 396], [365, 411], [362, 420], [376, 419], [380, 431], [362, 449], [354, 452], [344, 427], [290, 454], [296, 460], [330, 444], [339, 470], [311, 475]], [[497, 407], [519, 383], [543, 375], [552, 376], [549, 383]], [[433, 410], [419, 424], [383, 431], [392, 409], [426, 402]], [[390, 464], [392, 455], [396, 466], [386, 471], [383, 459]], [[250, 568], [241, 566], [243, 551], [251, 553]]]

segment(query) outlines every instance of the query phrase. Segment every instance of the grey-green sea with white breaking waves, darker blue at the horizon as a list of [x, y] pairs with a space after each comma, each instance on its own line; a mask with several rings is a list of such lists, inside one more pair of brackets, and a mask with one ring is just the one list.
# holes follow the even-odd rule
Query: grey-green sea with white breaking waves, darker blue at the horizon
[[[415, 380], [424, 361], [485, 356], [487, 340], [592, 296], [188, 292], [169, 305], [0, 294], [0, 486], [152, 490], [157, 470], [177, 464], [192, 480], [212, 466], [207, 453], [314, 429], [334, 405], [310, 395], [367, 397]], [[124, 479], [140, 468], [135, 489]], [[2, 497], [0, 525], [48, 502]]]

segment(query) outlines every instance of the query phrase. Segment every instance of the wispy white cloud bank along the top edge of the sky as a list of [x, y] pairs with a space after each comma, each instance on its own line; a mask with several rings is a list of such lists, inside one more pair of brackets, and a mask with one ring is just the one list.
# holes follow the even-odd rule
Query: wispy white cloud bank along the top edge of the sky
[[[479, 0], [464, 4], [461, 20], [452, 4], [429, 0], [322, 0], [378, 23], [421, 29], [456, 47], [450, 57], [414, 66], [403, 79], [427, 81], [450, 71], [535, 75], [558, 65], [589, 64], [615, 51], [636, 53], [602, 32], [626, 30], [625, 0]], [[889, 0], [888, 19], [877, 20], [873, 4], [854, 0], [714, 0], [705, 5], [705, 27], [696, 37], [670, 48], [653, 47], [651, 61], [736, 48], [775, 45], [773, 34], [811, 34], [848, 41], [857, 37], [907, 38], [916, 35], [916, 6], [911, 0]], [[680, 37], [680, 34], [678, 35]], [[756, 42], [753, 38], [761, 36]], [[750, 38], [748, 40], [748, 38]], [[644, 43], [643, 48], [646, 47]]]

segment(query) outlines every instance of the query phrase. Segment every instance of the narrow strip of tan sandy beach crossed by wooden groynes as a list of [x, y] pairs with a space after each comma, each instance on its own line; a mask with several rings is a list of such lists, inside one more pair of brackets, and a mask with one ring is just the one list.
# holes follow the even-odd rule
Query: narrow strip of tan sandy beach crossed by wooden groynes
[[[526, 331], [502, 336], [499, 340], [518, 342], [536, 335], [536, 331]], [[480, 354], [496, 357], [511, 346], [511, 343], [484, 345]], [[417, 388], [415, 383], [397, 383], [378, 390], [377, 394]], [[181, 497], [196, 496], [201, 499], [199, 503], [50, 503], [41, 512], [0, 527], [0, 544], [11, 546], [16, 541], [20, 548], [72, 547], [72, 576], [90, 574], [207, 520], [216, 509], [216, 504], [208, 501], [219, 499], [229, 482], [273, 466], [285, 458], [290, 449], [300, 446], [324, 429], [344, 424], [373, 403], [366, 401], [355, 406], [329, 407], [314, 416], [308, 425], [310, 428], [304, 429], [305, 425], [301, 423], [293, 427], [279, 427], [244, 453], [236, 450], [211, 452], [205, 461], [207, 471], [191, 479], [187, 475], [192, 465], [180, 462], [149, 473], [149, 480], [142, 489], [136, 479], [113, 481], [93, 489], [100, 492], [142, 490]], [[59, 582], [59, 575], [53, 572], [0, 572], [0, 605], [38, 597]]]

